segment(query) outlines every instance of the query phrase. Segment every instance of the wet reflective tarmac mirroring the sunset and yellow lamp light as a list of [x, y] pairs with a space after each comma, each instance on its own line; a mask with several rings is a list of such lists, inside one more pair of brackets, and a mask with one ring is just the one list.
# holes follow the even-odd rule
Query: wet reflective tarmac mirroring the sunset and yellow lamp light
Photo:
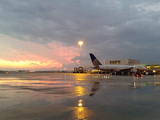
[[159, 120], [160, 76], [0, 74], [0, 120]]

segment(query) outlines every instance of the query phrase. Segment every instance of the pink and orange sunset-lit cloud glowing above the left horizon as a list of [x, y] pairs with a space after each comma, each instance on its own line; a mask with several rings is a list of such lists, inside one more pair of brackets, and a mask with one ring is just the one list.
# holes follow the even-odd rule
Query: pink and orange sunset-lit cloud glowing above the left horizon
[[[62, 67], [62, 64], [73, 63], [72, 58], [79, 55], [79, 48], [63, 46], [53, 41], [42, 45], [31, 41], [21, 41], [0, 34], [0, 56], [3, 61], [26, 62], [30, 67]], [[28, 67], [26, 65], [26, 67]], [[1, 67], [1, 66], [0, 66]]]

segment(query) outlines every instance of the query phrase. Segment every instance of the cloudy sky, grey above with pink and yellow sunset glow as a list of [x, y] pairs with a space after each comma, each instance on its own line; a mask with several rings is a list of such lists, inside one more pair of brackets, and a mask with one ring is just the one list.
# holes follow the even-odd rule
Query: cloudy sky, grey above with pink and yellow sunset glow
[[0, 70], [71, 70], [89, 53], [160, 63], [159, 45], [159, 0], [0, 1]]

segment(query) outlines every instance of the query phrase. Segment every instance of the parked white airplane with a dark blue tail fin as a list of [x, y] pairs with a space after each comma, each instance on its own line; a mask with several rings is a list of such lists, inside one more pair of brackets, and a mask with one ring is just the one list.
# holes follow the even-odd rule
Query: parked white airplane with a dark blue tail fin
[[109, 72], [116, 72], [116, 71], [144, 71], [147, 68], [144, 65], [102, 65], [99, 60], [93, 55], [93, 53], [89, 53], [91, 61], [93, 63], [92, 69], [97, 69], [101, 71], [109, 71]]

